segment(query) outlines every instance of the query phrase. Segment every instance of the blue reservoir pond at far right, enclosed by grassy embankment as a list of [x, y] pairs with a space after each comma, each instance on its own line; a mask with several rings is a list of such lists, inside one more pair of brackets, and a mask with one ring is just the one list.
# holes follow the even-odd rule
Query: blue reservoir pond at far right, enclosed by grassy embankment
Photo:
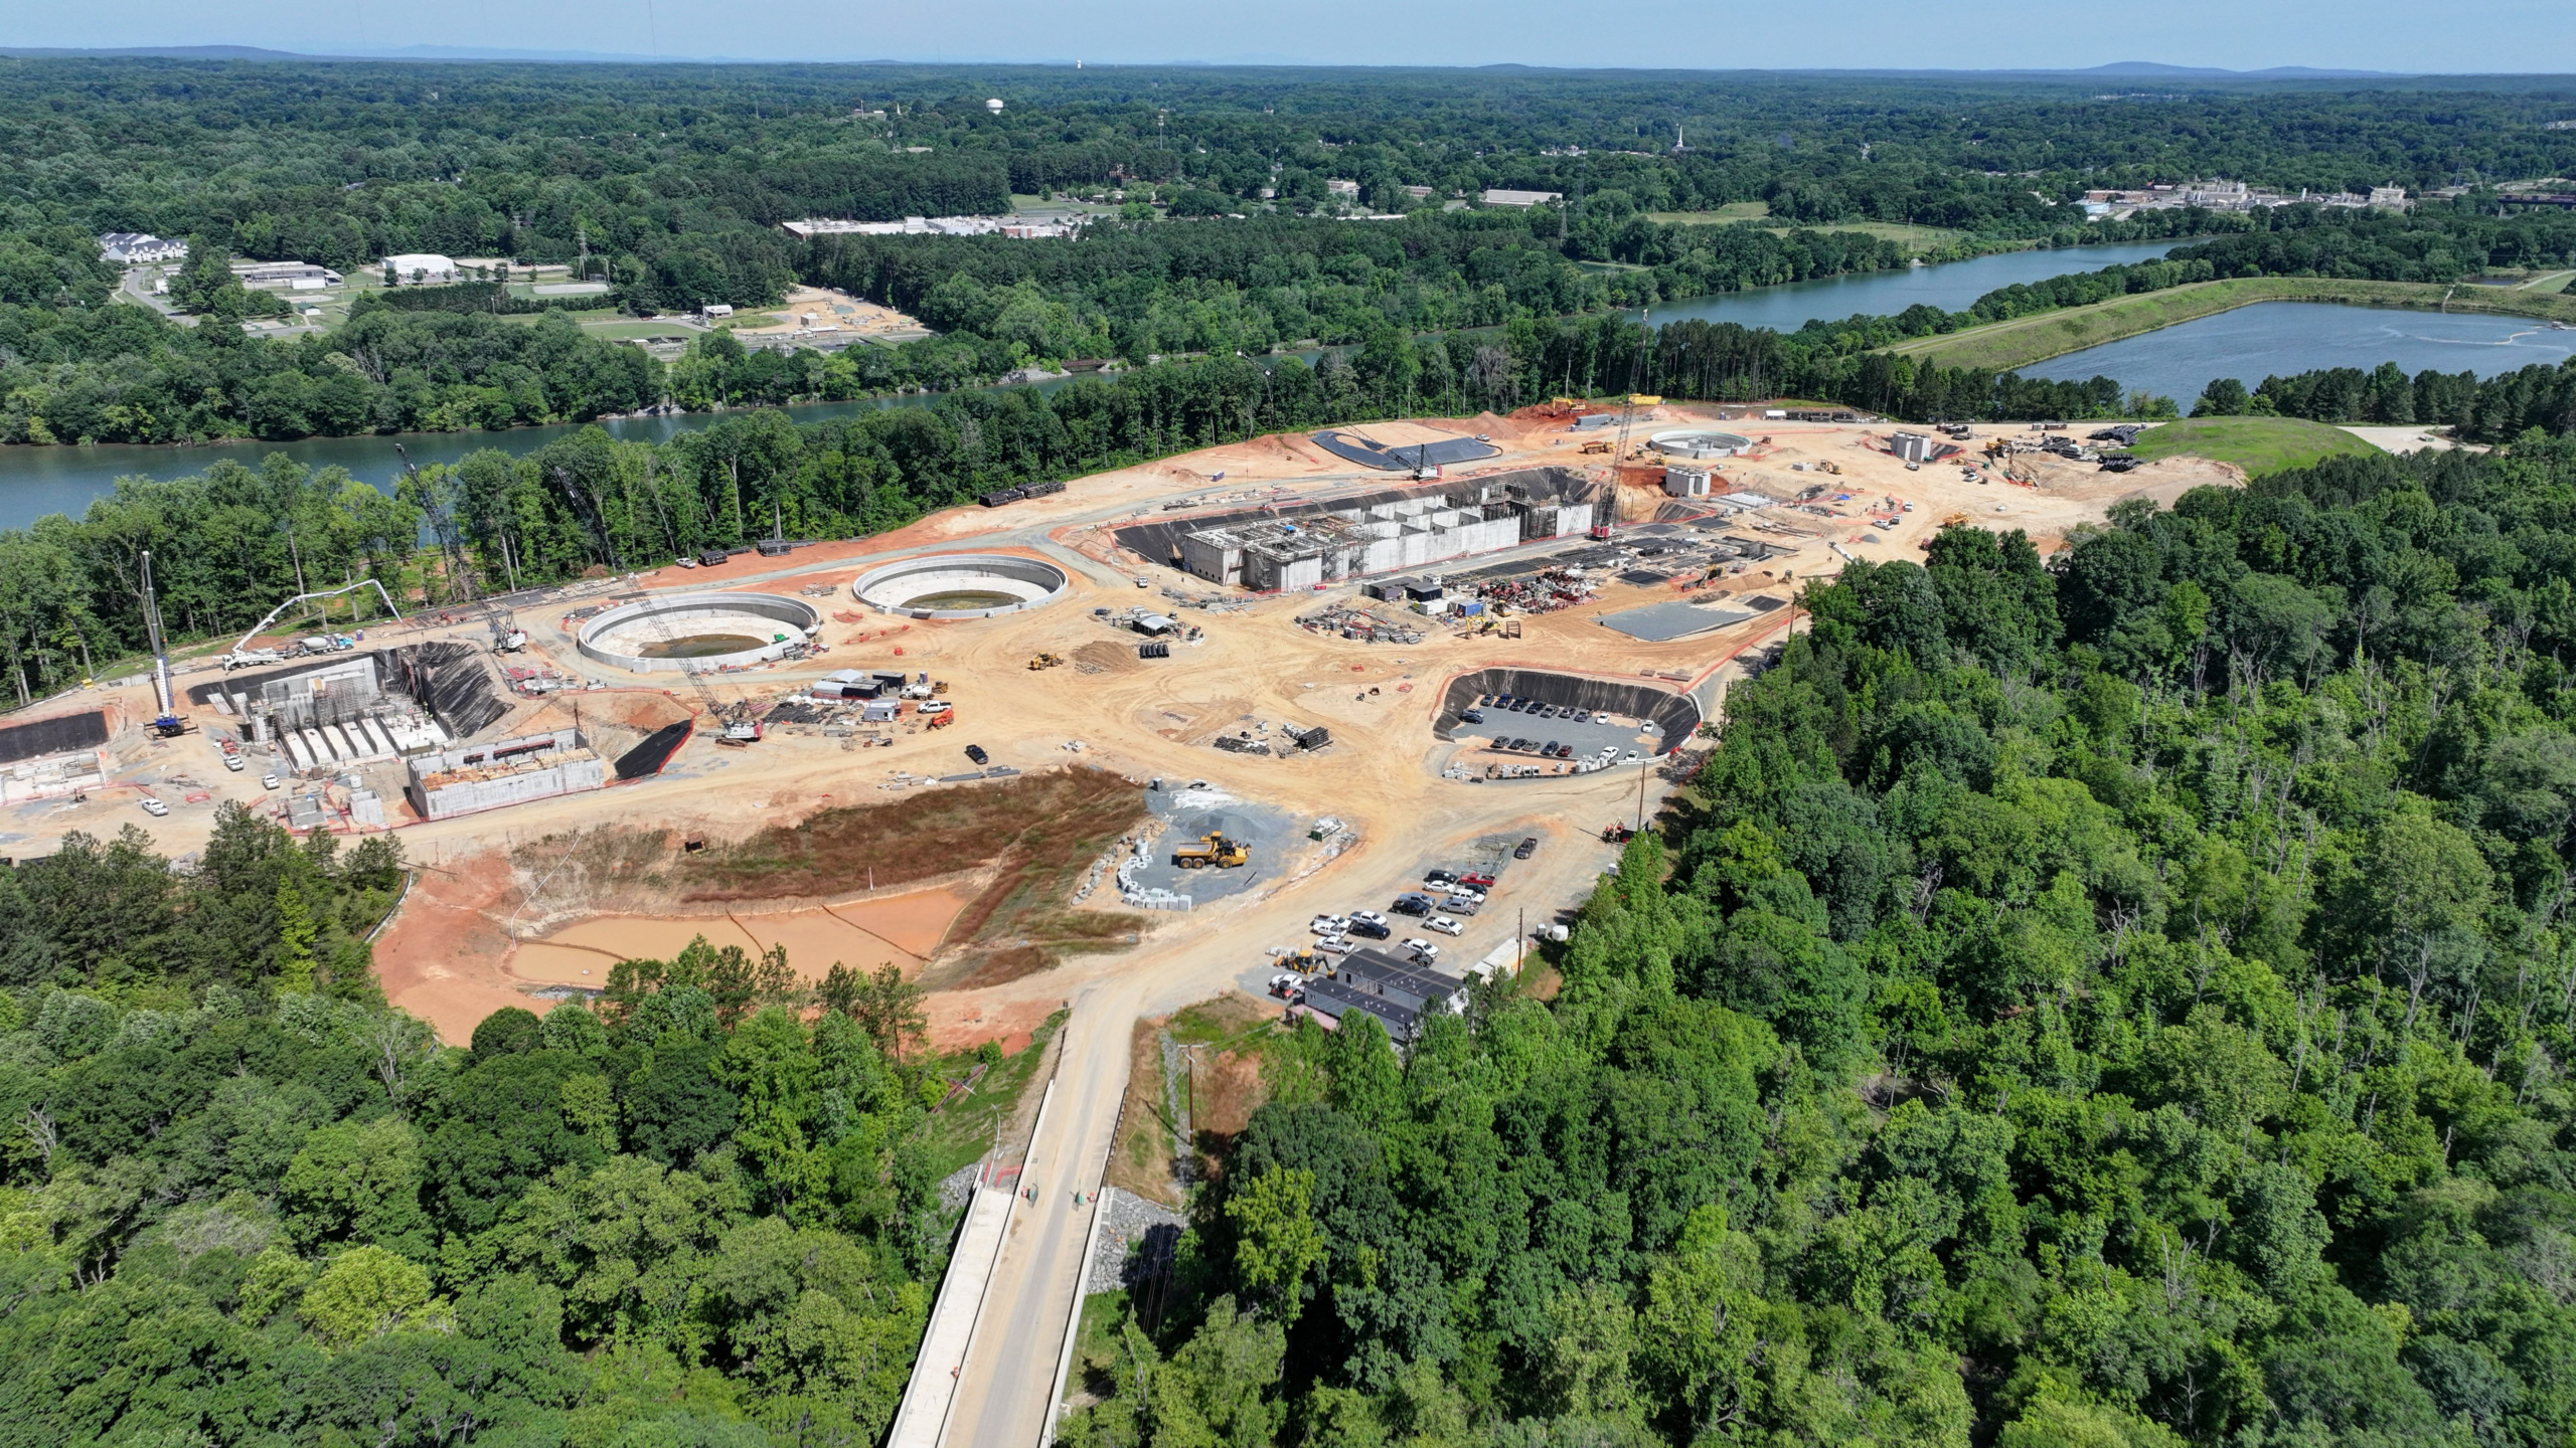
[[2424, 368], [2496, 376], [2530, 363], [2555, 366], [2568, 356], [2576, 356], [2576, 332], [2530, 317], [2257, 301], [2020, 371], [2053, 381], [2112, 376], [2120, 386], [2172, 397], [2190, 410], [2213, 376], [2233, 376], [2254, 389], [2264, 376], [2329, 366], [2370, 371], [2383, 361], [2398, 363], [2406, 376]]

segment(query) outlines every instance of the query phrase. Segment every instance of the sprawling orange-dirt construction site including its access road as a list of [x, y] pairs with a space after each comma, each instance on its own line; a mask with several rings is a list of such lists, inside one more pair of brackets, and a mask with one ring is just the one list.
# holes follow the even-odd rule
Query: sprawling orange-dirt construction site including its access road
[[[1600, 412], [1530, 407], [1370, 428], [1388, 453], [1492, 448], [1440, 477], [1275, 435], [788, 557], [446, 611], [371, 595], [363, 629], [348, 600], [289, 600], [224, 652], [0, 729], [0, 853], [131, 822], [185, 855], [224, 804], [394, 832], [415, 873], [376, 971], [456, 1043], [693, 935], [783, 948], [804, 979], [894, 964], [930, 987], [940, 1049], [1015, 1051], [1069, 1010], [1038, 1152], [1095, 1183], [1133, 1023], [1216, 995], [1275, 1015], [1265, 971], [1314, 956], [1309, 917], [1409, 904], [1448, 861], [1499, 884], [1425, 902], [1458, 930], [1443, 948], [1520, 961], [1690, 776], [1811, 580], [1919, 559], [1945, 523], [2045, 557], [2120, 497], [2236, 482], [1625, 412], [1643, 438], [1607, 456], [1577, 425]], [[1945, 443], [1984, 459], [2004, 435]], [[1708, 484], [1674, 492], [1682, 466]], [[1079, 1252], [1066, 1198], [994, 1239], [994, 1322], [1061, 1329], [1069, 1278], [1015, 1252]], [[938, 1360], [948, 1332], [922, 1360], [958, 1371], [953, 1409], [1020, 1412], [994, 1360]]]

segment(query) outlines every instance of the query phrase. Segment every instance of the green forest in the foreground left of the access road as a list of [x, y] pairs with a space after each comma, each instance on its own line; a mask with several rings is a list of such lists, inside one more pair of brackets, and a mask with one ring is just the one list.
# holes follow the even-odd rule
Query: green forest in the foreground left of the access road
[[234, 806], [0, 868], [0, 1443], [878, 1443], [953, 1224], [917, 989], [701, 938], [446, 1049], [399, 889]]

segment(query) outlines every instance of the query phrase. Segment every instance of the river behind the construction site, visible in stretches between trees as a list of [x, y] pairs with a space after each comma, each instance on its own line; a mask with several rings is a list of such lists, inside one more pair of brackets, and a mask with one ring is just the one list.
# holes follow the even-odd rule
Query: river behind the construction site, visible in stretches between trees
[[[2025, 250], [1942, 265], [1917, 265], [1906, 271], [1870, 271], [1824, 281], [1793, 281], [1788, 286], [1762, 286], [1754, 291], [1726, 291], [1718, 296], [1667, 301], [1654, 309], [1654, 319], [1680, 322], [1705, 317], [1710, 322], [1741, 322], [1747, 327], [1780, 327], [1793, 332], [1816, 317], [1904, 312], [1917, 301], [1960, 309], [1996, 286], [2040, 281], [2069, 271], [2097, 271], [2112, 263], [2148, 260], [2177, 245], [2179, 242], [2136, 242], [2115, 247]], [[914, 394], [868, 402], [806, 402], [788, 407], [788, 415], [799, 423], [817, 423], [824, 417], [871, 412], [876, 407], [917, 407], [925, 402], [933, 402], [933, 397]], [[623, 417], [600, 425], [616, 438], [665, 441], [672, 433], [706, 428], [716, 417], [721, 415], [688, 412], [680, 417]], [[118, 477], [188, 477], [193, 472], [206, 472], [206, 466], [216, 459], [240, 459], [258, 466], [268, 453], [286, 453], [307, 466], [337, 464], [361, 482], [392, 487], [394, 477], [402, 472], [402, 459], [394, 456], [394, 443], [402, 443], [402, 448], [412, 453], [415, 464], [446, 464], [479, 448], [531, 453], [574, 430], [577, 425], [567, 423], [556, 428], [510, 428], [502, 433], [404, 433], [399, 438], [304, 438], [294, 443], [247, 441], [209, 448], [134, 443], [93, 443], [88, 448], [0, 446], [0, 528], [23, 528], [46, 513], [77, 515], [93, 497], [111, 492]]]

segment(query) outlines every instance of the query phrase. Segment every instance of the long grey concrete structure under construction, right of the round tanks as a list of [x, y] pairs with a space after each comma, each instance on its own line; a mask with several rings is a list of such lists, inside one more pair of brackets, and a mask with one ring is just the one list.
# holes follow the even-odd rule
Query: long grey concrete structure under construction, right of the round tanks
[[1566, 497], [1528, 482], [1489, 479], [1432, 497], [1198, 528], [1180, 538], [1180, 567], [1208, 582], [1280, 593], [1589, 531], [1589, 495]]

